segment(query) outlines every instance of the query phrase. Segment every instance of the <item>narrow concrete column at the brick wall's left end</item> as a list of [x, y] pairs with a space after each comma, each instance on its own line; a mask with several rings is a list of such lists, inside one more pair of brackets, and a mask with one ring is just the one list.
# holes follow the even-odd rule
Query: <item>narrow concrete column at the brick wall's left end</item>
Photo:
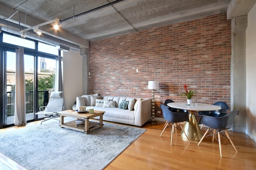
[[89, 72], [89, 49], [88, 48], [82, 48], [80, 49], [80, 55], [83, 58], [83, 80], [82, 80], [82, 92], [83, 95], [88, 94], [88, 72]]

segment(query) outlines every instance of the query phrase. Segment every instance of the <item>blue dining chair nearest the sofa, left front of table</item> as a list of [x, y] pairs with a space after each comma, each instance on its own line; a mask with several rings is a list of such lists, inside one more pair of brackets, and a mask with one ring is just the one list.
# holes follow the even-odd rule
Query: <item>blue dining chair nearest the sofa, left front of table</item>
[[[190, 143], [190, 141], [188, 139], [188, 136], [186, 135], [186, 133], [184, 132], [182, 126], [180, 125], [180, 122], [189, 121], [188, 113], [185, 113], [185, 112], [183, 112], [183, 113], [182, 112], [180, 112], [180, 113], [172, 112], [172, 111], [170, 111], [168, 109], [167, 106], [164, 106], [162, 104], [160, 104], [160, 108], [162, 109], [164, 119], [166, 121], [168, 121], [168, 123], [166, 124], [164, 129], [166, 129], [167, 125], [170, 128], [170, 123], [172, 123], [172, 135], [173, 135], [173, 133], [180, 127], [181, 130], [183, 131], [183, 133], [185, 134], [186, 139], [188, 140], [188, 143]], [[179, 126], [175, 125], [175, 123], [179, 123]], [[172, 145], [172, 136], [171, 136], [171, 145]]]

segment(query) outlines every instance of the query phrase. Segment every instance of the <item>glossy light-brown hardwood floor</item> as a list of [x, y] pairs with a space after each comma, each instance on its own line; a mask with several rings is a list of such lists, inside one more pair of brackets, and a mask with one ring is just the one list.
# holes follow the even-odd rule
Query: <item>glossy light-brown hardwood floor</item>
[[[27, 126], [36, 123], [40, 121], [28, 123]], [[164, 123], [161, 121], [154, 125], [146, 123], [142, 128], [147, 131], [114, 159], [105, 170], [256, 169], [256, 143], [245, 133], [228, 131], [238, 152], [234, 150], [228, 139], [223, 138], [223, 158], [220, 158], [218, 142], [212, 143], [211, 137], [206, 137], [200, 146], [197, 146], [198, 142], [191, 141], [189, 144], [182, 140], [180, 133], [177, 133], [177, 135], [174, 134], [171, 146], [170, 129], [166, 129], [160, 137]], [[17, 128], [22, 127], [0, 129], [0, 133]], [[206, 128], [202, 131], [204, 133]]]

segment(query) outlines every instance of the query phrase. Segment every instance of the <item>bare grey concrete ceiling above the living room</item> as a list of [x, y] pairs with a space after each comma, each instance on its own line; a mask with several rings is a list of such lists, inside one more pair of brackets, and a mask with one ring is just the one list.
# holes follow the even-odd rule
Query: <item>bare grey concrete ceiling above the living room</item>
[[[223, 13], [230, 4], [230, 0], [121, 0], [112, 6], [64, 21], [114, 1], [0, 0], [0, 4], [26, 13], [41, 23], [60, 18], [60, 29], [88, 41]], [[4, 12], [1, 13], [3, 15]]]

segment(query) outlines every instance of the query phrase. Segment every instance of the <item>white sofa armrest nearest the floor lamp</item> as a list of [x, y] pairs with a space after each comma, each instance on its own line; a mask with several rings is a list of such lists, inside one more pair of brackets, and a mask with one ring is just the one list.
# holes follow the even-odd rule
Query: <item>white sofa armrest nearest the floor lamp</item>
[[142, 126], [151, 119], [151, 99], [139, 101], [138, 107], [134, 110], [135, 125]]

